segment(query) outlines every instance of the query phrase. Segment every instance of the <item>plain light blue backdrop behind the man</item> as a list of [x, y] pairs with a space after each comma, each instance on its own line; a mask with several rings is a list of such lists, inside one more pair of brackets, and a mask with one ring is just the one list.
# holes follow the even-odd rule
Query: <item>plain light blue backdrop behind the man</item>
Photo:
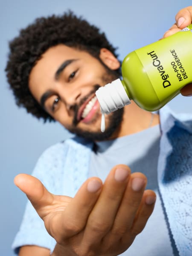
[[[0, 0], [0, 251], [12, 256], [11, 244], [19, 228], [26, 196], [13, 183], [18, 173], [32, 172], [49, 145], [70, 134], [59, 124], [44, 124], [15, 105], [5, 76], [8, 41], [36, 17], [72, 9], [106, 32], [120, 59], [134, 49], [157, 41], [175, 22], [178, 10], [190, 0]], [[169, 106], [176, 112], [192, 112], [192, 98], [181, 95]]]

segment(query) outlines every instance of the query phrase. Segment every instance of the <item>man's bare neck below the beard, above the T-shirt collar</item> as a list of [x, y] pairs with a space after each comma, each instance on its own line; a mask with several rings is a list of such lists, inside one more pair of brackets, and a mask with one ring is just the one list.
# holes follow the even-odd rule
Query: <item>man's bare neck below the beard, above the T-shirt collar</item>
[[131, 101], [130, 105], [124, 107], [123, 119], [117, 130], [112, 134], [110, 139], [134, 134], [154, 125], [159, 124], [159, 115], [145, 111]]

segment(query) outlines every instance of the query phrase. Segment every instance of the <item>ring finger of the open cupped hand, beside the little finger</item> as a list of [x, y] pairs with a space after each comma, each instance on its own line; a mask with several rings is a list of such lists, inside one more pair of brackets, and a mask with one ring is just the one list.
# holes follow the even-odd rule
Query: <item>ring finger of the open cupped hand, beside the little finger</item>
[[147, 179], [142, 173], [131, 175], [113, 224], [112, 233], [115, 236], [121, 236], [127, 230], [131, 229], [138, 208], [140, 207], [146, 183]]

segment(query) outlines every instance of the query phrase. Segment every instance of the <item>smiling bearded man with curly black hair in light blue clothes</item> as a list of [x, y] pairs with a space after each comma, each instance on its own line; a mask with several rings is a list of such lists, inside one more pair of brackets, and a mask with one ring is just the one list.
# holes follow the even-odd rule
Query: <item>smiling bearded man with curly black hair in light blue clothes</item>
[[[189, 6], [165, 36], [191, 21]], [[101, 133], [95, 91], [120, 76], [120, 63], [105, 35], [72, 13], [36, 20], [10, 51], [6, 72], [17, 104], [78, 135], [47, 149], [35, 177], [15, 177], [44, 221], [28, 204], [14, 242], [19, 255], [189, 255], [191, 117], [151, 114], [132, 102], [106, 116]], [[182, 93], [192, 94], [191, 85]]]

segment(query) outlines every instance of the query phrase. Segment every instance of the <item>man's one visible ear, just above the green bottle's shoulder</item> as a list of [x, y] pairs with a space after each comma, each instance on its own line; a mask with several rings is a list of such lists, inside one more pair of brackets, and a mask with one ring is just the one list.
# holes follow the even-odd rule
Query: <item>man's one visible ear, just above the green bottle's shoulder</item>
[[100, 49], [99, 58], [111, 70], [116, 70], [120, 67], [118, 59], [106, 48]]

